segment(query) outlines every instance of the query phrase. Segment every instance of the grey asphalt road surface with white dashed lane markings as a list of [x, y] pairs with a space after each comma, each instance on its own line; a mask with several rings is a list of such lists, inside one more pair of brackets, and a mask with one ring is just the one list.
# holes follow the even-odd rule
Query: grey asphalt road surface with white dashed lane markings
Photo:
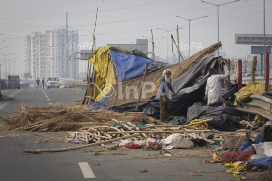
[[[18, 104], [48, 105], [56, 102], [75, 105], [84, 91], [72, 89], [20, 89], [2, 91], [17, 101], [0, 102], [0, 115], [19, 108]], [[0, 123], [3, 124], [3, 123]], [[1, 126], [1, 125], [0, 125]], [[101, 146], [87, 148], [92, 152], [22, 153], [25, 149], [66, 148], [79, 146], [69, 143], [35, 143], [42, 139], [65, 138], [65, 133], [7, 133], [0, 132], [1, 180], [234, 180], [232, 174], [215, 172], [227, 170], [224, 165], [203, 163], [211, 159], [209, 149], [172, 149], [174, 156], [161, 158], [158, 151], [141, 149], [108, 151]], [[99, 150], [105, 150], [101, 152]], [[95, 156], [95, 152], [100, 155]], [[113, 155], [123, 153], [124, 155]], [[187, 156], [186, 153], [195, 153]], [[98, 165], [99, 164], [99, 165]], [[140, 172], [148, 170], [148, 172]], [[196, 173], [195, 171], [208, 171]], [[211, 172], [212, 171], [212, 172]]]

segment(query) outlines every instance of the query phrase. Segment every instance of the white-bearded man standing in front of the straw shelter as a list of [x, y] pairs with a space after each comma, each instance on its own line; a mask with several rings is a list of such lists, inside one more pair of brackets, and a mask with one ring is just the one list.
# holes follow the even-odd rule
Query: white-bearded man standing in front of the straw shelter
[[163, 71], [163, 77], [160, 80], [160, 106], [161, 106], [161, 122], [167, 122], [168, 113], [169, 113], [169, 90], [176, 97], [176, 93], [173, 90], [171, 83], [172, 71], [167, 68]]

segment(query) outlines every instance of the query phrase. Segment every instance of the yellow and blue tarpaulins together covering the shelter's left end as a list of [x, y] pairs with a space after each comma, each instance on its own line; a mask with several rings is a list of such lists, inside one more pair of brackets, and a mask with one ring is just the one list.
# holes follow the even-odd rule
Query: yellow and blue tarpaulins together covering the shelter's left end
[[139, 50], [128, 52], [113, 46], [97, 48], [88, 61], [94, 63], [96, 86], [93, 92], [96, 102], [111, 91], [112, 84], [137, 76], [144, 71], [146, 63], [150, 66], [156, 62]]

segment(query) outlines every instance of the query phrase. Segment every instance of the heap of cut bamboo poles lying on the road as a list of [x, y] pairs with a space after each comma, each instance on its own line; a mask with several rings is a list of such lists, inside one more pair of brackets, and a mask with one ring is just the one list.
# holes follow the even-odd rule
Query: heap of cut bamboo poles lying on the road
[[[212, 140], [208, 140], [205, 138], [205, 136], [199, 136], [197, 133], [220, 133], [219, 131], [213, 131], [213, 130], [206, 130], [206, 129], [200, 129], [200, 128], [192, 128], [190, 126], [202, 124], [205, 122], [213, 121], [214, 119], [208, 119], [203, 120], [197, 123], [192, 123], [184, 126], [175, 126], [175, 125], [149, 125], [147, 127], [139, 127], [137, 125], [134, 125], [127, 120], [116, 120], [112, 119], [112, 121], [118, 123], [119, 127], [113, 127], [113, 126], [90, 126], [90, 127], [83, 127], [78, 131], [71, 131], [68, 132], [69, 135], [67, 137], [69, 138], [76, 138], [79, 137], [81, 141], [86, 142], [87, 145], [83, 146], [76, 146], [76, 147], [70, 147], [70, 148], [62, 148], [62, 149], [37, 149], [37, 150], [25, 150], [24, 153], [41, 153], [41, 152], [61, 152], [61, 151], [68, 151], [68, 150], [75, 150], [75, 149], [82, 149], [86, 147], [91, 147], [95, 145], [101, 145], [107, 149], [112, 149], [114, 147], [117, 147], [118, 144], [108, 146], [105, 143], [111, 143], [113, 141], [122, 141], [124, 139], [128, 139], [130, 142], [137, 141], [140, 147], [144, 147], [146, 145], [146, 148], [149, 147], [150, 142], [148, 141], [149, 138], [155, 138], [157, 139], [163, 139], [168, 137], [171, 134], [179, 134], [180, 136], [184, 136], [188, 139], [203, 139], [206, 140], [208, 143], [214, 144], [215, 142]], [[173, 130], [164, 130], [164, 128], [174, 128]], [[189, 130], [188, 128], [191, 128]], [[142, 131], [142, 130], [145, 131]], [[193, 129], [193, 130], [192, 130]], [[161, 148], [160, 143], [155, 143], [155, 145], [152, 147], [154, 149]]]

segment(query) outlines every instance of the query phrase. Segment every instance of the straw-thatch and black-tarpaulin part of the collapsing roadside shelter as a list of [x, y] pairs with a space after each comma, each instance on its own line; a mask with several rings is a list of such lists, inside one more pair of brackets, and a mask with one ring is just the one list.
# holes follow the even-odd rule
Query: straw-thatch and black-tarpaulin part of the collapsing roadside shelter
[[[190, 107], [193, 103], [199, 102], [199, 100], [203, 100], [203, 98], [205, 97], [206, 81], [210, 76], [208, 69], [210, 67], [213, 67], [219, 69], [219, 72], [221, 72], [221, 68], [219, 67], [220, 61], [218, 61], [219, 59], [221, 59], [221, 56], [214, 56], [211, 54], [221, 46], [221, 42], [216, 43], [194, 54], [187, 60], [167, 67], [173, 71], [172, 86], [174, 88], [174, 91], [178, 92], [177, 98], [170, 100], [169, 116], [186, 115], [188, 107]], [[154, 62], [154, 64], [155, 63], [157, 62]], [[146, 81], [154, 82], [156, 88], [155, 92], [146, 94], [147, 97], [145, 99], [143, 99], [142, 97], [138, 108], [139, 112], [144, 112], [149, 116], [159, 118], [160, 102], [159, 99], [156, 98], [156, 95], [158, 92], [159, 80], [162, 77], [162, 72], [164, 69], [165, 68], [162, 68], [155, 72], [151, 72], [146, 76]], [[116, 112], [134, 111], [137, 104], [137, 98], [135, 99], [133, 96], [131, 96], [132, 94], [130, 92], [133, 93], [135, 92], [135, 90], [132, 90], [130, 92], [128, 91], [129, 99], [125, 99], [125, 93], [128, 86], [137, 87], [138, 90], [141, 88], [141, 82], [143, 80], [143, 77], [139, 75], [140, 74], [134, 76], [136, 78], [132, 80], [123, 80], [121, 85], [115, 83], [114, 95], [104, 97], [100, 100], [96, 100], [97, 102], [90, 105], [90, 109], [105, 110], [106, 107], [108, 107], [108, 110], [113, 110]], [[122, 92], [120, 92], [120, 90]], [[121, 99], [119, 97], [120, 95]]]

